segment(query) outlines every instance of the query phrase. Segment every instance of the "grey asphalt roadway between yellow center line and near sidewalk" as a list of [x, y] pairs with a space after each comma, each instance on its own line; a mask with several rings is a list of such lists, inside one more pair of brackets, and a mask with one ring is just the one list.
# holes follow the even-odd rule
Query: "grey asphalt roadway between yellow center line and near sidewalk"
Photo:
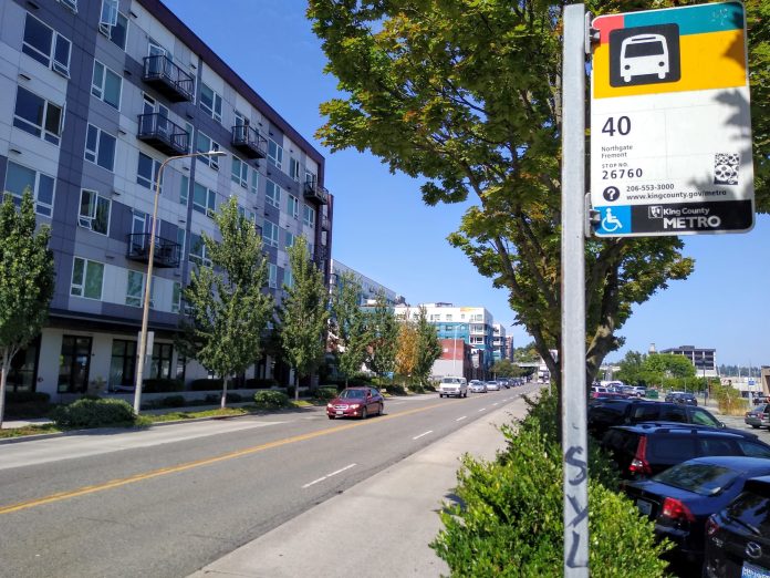
[[[414, 432], [428, 425], [437, 435], [454, 431], [458, 416], [477, 413], [474, 401], [443, 400], [435, 411], [403, 420], [354, 422], [363, 425], [8, 514], [3, 523], [18, 531], [0, 546], [3, 571], [186, 576], [429, 443], [429, 436], [413, 440]], [[336, 471], [342, 472], [324, 483], [302, 487]]]

